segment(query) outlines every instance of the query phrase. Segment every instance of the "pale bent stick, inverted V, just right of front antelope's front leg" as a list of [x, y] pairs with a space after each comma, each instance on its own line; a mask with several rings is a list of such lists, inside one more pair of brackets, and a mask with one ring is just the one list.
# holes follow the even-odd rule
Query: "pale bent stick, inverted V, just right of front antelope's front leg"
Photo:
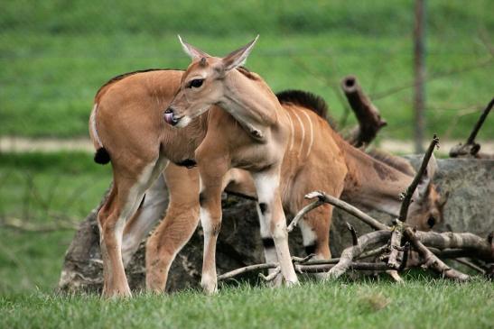
[[332, 206], [336, 206], [337, 208], [340, 208], [350, 215], [354, 215], [355, 217], [359, 218], [362, 222], [365, 224], [368, 224], [375, 230], [390, 230], [390, 228], [382, 224], [381, 222], [377, 221], [377, 219], [372, 218], [371, 216], [367, 215], [366, 213], [362, 212], [359, 210], [359, 208], [355, 206], [351, 206], [350, 204], [341, 201], [339, 198], [334, 197], [334, 196], [329, 196], [323, 192], [319, 191], [314, 191], [305, 196], [306, 199], [312, 199], [317, 197], [318, 200], [312, 202], [312, 204], [309, 204], [307, 206], [304, 206], [301, 211], [295, 215], [294, 219], [292, 220], [292, 223], [288, 225], [288, 232], [292, 232], [294, 230], [294, 227], [298, 224], [298, 222], [302, 219], [303, 215], [307, 214], [310, 212], [312, 209], [315, 209], [318, 206], [321, 206], [322, 204], [330, 204]]

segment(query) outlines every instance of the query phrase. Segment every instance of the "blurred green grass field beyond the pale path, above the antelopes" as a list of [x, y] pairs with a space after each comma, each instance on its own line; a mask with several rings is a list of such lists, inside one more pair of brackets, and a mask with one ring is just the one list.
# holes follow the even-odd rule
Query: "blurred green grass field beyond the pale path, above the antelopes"
[[[389, 123], [380, 138], [411, 138], [413, 1], [313, 5], [250, 0], [228, 3], [228, 15], [226, 6], [201, 5], [198, 11], [196, 2], [157, 0], [145, 6], [131, 1], [118, 6], [54, 0], [5, 4], [0, 14], [0, 135], [86, 136], [93, 96], [108, 78], [188, 65], [177, 32], [215, 55], [259, 32], [247, 64], [275, 91], [311, 90], [341, 118], [344, 106], [334, 88], [345, 75], [356, 74]], [[427, 69], [441, 78], [427, 84], [428, 134], [466, 138], [492, 97], [494, 60], [480, 36], [492, 39], [493, 11], [487, 0], [429, 4]], [[456, 70], [461, 73], [444, 75]], [[494, 138], [491, 121], [480, 140]]]

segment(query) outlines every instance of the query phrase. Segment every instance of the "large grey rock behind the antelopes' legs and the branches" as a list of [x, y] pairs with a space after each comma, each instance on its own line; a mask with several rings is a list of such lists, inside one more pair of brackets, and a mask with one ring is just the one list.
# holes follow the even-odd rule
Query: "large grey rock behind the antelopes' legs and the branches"
[[[410, 157], [415, 165], [420, 157]], [[455, 232], [469, 231], [487, 236], [494, 230], [494, 160], [438, 160], [434, 183], [442, 193], [449, 193], [444, 208], [445, 223]], [[98, 245], [97, 210], [93, 210], [80, 224], [74, 241], [65, 257], [59, 287], [63, 290], [99, 290], [101, 288], [101, 260]], [[253, 201], [228, 197], [224, 204], [224, 219], [219, 233], [217, 264], [219, 273], [248, 264], [264, 262], [259, 226]], [[389, 215], [371, 212], [378, 220], [389, 223]], [[359, 234], [370, 229], [359, 220], [336, 210], [331, 226], [331, 253], [338, 256], [351, 244], [346, 222], [352, 224]], [[290, 235], [293, 255], [303, 256], [300, 233]], [[200, 282], [202, 261], [202, 231], [193, 234], [191, 241], [177, 255], [168, 279], [168, 290], [197, 287]], [[131, 288], [144, 288], [144, 243], [136, 252], [127, 270]], [[246, 277], [255, 279], [255, 276]]]

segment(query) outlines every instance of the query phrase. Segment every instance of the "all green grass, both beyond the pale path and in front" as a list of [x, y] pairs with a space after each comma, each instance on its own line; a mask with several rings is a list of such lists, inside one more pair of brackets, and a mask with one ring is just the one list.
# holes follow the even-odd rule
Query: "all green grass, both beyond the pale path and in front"
[[[214, 5], [213, 5], [214, 4]], [[412, 136], [414, 1], [10, 1], [0, 11], [0, 137], [86, 137], [98, 87], [135, 69], [185, 68], [176, 39], [224, 55], [260, 33], [248, 59], [275, 91], [323, 96], [345, 124], [340, 79], [355, 74], [389, 123], [380, 139]], [[494, 3], [427, 2], [427, 134], [465, 139], [492, 97]], [[492, 115], [480, 140], [494, 140]], [[352, 123], [352, 115], [346, 124]], [[0, 152], [0, 327], [492, 328], [492, 283], [430, 276], [312, 281], [300, 288], [224, 288], [107, 303], [58, 296], [74, 231], [111, 168], [86, 153]]]

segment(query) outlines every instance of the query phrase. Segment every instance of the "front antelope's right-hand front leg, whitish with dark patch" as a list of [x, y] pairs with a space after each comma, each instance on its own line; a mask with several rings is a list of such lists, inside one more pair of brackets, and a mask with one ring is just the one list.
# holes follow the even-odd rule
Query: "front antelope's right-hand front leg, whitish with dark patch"
[[[294, 270], [294, 264], [288, 248], [288, 233], [286, 232], [286, 219], [279, 193], [279, 174], [266, 172], [254, 175], [257, 197], [259, 202], [259, 215], [262, 222], [269, 228], [275, 244], [276, 256], [280, 262], [281, 272], [287, 286], [298, 283]], [[266, 248], [265, 241], [265, 248]]]

